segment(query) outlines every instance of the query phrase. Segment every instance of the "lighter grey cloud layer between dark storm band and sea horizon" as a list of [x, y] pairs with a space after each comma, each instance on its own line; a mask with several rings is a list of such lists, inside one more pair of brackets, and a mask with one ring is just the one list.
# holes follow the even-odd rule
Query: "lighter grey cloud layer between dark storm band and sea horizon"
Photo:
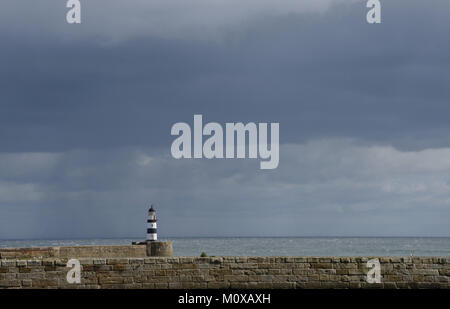
[[[338, 139], [280, 151], [280, 167], [269, 173], [256, 160], [175, 160], [164, 150], [60, 153], [58, 178], [47, 177], [48, 166], [41, 180], [16, 179], [12, 199], [1, 200], [8, 219], [0, 234], [30, 237], [22, 222], [32, 221], [40, 237], [139, 236], [149, 202], [158, 204], [166, 236], [450, 232], [449, 148], [399, 151]], [[11, 186], [0, 183], [0, 191]]]

